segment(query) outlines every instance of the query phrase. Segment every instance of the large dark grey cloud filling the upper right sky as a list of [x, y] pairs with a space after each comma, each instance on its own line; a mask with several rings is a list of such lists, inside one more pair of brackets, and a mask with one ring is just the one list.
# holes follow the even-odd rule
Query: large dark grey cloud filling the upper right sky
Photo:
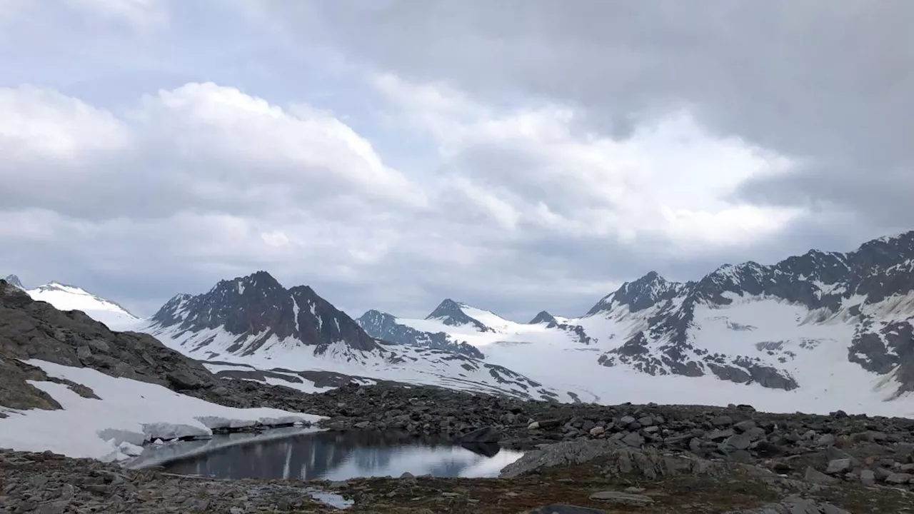
[[[914, 193], [910, 2], [260, 7], [296, 44], [333, 48], [351, 63], [447, 84], [490, 104], [574, 106], [587, 113], [581, 123], [614, 138], [685, 108], [709, 133], [802, 163], [742, 181], [734, 201], [758, 209], [827, 205], [834, 215], [865, 219], [845, 243], [877, 235], [892, 218], [914, 217], [909, 202], [897, 201]], [[434, 100], [414, 92], [417, 101]], [[809, 237], [810, 245], [822, 241]]]

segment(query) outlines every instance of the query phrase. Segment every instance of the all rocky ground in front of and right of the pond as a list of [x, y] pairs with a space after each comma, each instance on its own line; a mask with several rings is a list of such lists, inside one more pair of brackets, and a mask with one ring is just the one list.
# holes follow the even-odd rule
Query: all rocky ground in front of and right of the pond
[[[283, 396], [286, 388], [272, 389]], [[180, 477], [159, 467], [127, 470], [2, 451], [0, 512], [338, 512], [346, 502], [349, 512], [415, 514], [914, 509], [909, 419], [756, 412], [748, 405], [521, 402], [393, 384], [351, 384], [293, 394], [287, 401], [327, 416], [318, 425], [330, 430], [446, 434], [456, 442], [497, 442], [526, 454], [497, 479], [327, 483]], [[337, 506], [315, 498], [335, 498]], [[540, 509], [568, 504], [596, 510]]]

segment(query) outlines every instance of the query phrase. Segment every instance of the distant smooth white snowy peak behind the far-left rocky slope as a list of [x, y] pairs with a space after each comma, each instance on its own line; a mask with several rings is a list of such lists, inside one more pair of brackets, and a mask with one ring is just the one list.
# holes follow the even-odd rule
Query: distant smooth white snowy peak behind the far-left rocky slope
[[132, 327], [140, 318], [111, 300], [91, 294], [75, 285], [49, 282], [35, 289], [26, 289], [15, 274], [5, 278], [6, 282], [24, 290], [33, 300], [48, 302], [61, 311], [82, 311], [96, 321], [112, 329]]

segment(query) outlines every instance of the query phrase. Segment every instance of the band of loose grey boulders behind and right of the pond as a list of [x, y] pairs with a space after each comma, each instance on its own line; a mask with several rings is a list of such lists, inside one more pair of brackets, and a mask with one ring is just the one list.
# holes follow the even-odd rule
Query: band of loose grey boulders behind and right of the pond
[[906, 418], [756, 412], [749, 405], [520, 402], [430, 387], [356, 384], [308, 400], [303, 408], [327, 416], [318, 425], [334, 430], [446, 434], [458, 442], [498, 443], [518, 450], [609, 441], [762, 464], [823, 483], [914, 487], [914, 420]]

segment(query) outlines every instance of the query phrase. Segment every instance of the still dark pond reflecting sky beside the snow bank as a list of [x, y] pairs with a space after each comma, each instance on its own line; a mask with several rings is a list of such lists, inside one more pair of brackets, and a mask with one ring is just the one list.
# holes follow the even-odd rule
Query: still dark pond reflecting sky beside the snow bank
[[[408, 472], [417, 477], [497, 477], [522, 455], [495, 444], [461, 445], [396, 432], [271, 431], [235, 442], [223, 436], [197, 443], [197, 447], [178, 444], [171, 449], [173, 455], [158, 455], [155, 464], [172, 473], [219, 478], [345, 480], [399, 477]], [[147, 459], [156, 457], [147, 455]], [[148, 464], [153, 463], [147, 460]]]

